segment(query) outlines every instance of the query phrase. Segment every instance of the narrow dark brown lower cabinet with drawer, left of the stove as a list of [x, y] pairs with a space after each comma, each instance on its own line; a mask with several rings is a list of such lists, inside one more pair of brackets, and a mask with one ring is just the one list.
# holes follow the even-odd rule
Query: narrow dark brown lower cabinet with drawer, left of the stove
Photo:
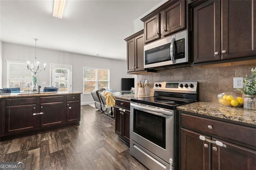
[[130, 102], [116, 99], [115, 132], [122, 141], [130, 144]]

